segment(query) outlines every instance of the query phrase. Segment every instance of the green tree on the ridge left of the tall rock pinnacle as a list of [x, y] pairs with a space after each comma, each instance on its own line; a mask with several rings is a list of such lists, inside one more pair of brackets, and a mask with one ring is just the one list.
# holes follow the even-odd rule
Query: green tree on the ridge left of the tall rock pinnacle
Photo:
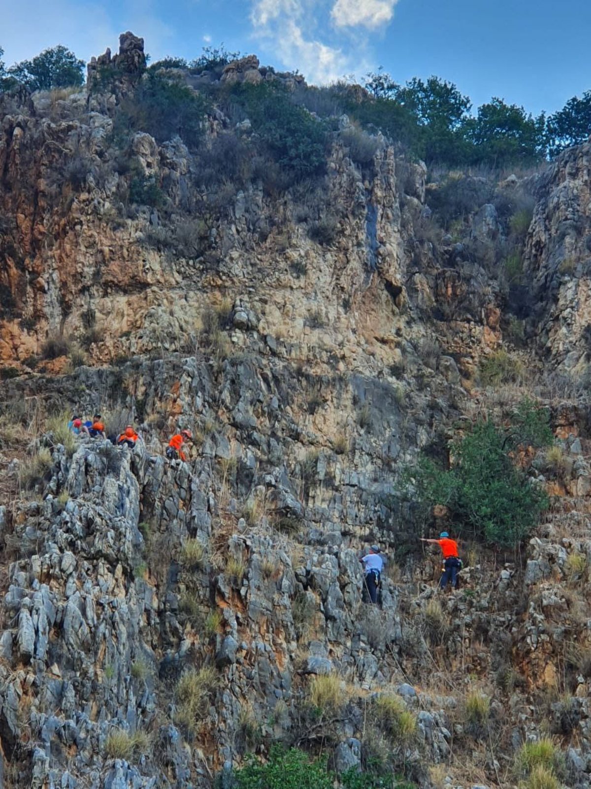
[[83, 84], [85, 65], [84, 60], [78, 60], [73, 52], [60, 45], [11, 66], [8, 74], [29, 90], [50, 91]]

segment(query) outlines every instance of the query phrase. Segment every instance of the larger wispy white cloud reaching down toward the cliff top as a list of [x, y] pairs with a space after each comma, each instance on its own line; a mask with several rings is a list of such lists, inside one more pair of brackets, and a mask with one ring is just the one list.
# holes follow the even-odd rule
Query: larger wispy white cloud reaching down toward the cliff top
[[321, 6], [314, 0], [255, 0], [251, 22], [255, 36], [270, 45], [285, 68], [299, 69], [312, 83], [327, 84], [361, 72], [366, 62], [361, 41], [348, 54], [316, 35], [314, 21]]

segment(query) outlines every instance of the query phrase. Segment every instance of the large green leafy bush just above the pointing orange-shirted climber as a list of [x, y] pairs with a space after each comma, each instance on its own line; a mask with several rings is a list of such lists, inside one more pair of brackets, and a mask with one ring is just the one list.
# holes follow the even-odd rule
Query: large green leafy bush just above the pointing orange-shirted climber
[[413, 473], [418, 500], [429, 507], [447, 506], [458, 522], [471, 525], [488, 542], [519, 543], [548, 507], [548, 497], [514, 466], [509, 451], [519, 444], [519, 425], [512, 428], [507, 434], [490, 421], [479, 421], [452, 444], [448, 470], [423, 456]]

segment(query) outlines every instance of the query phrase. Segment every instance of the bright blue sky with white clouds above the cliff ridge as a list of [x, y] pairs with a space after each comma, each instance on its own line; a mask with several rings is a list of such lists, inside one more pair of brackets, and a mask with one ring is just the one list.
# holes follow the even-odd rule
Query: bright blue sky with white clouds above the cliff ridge
[[452, 80], [475, 107], [552, 112], [591, 89], [589, 0], [0, 0], [0, 19], [7, 65], [57, 43], [87, 60], [129, 29], [153, 59], [223, 42], [316, 83], [383, 65]]

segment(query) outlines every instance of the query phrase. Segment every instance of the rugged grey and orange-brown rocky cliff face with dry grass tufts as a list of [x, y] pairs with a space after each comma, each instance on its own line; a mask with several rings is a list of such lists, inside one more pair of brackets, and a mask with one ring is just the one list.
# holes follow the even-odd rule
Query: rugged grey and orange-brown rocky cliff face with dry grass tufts
[[[507, 786], [549, 733], [563, 780], [589, 786], [586, 409], [531, 372], [586, 363], [587, 147], [522, 181], [436, 181], [380, 136], [355, 163], [341, 118], [321, 181], [214, 193], [217, 111], [200, 154], [146, 133], [121, 151], [142, 57], [124, 37], [90, 67], [91, 85], [117, 68], [108, 88], [0, 99], [4, 780], [209, 787], [278, 740], [340, 772]], [[221, 75], [268, 77], [288, 81], [252, 58]], [[132, 204], [134, 179], [159, 206]], [[500, 270], [526, 193], [515, 286]], [[487, 390], [479, 365], [505, 349], [523, 372]], [[534, 464], [556, 503], [522, 555], [478, 547], [437, 598], [400, 467], [466, 417], [503, 418], [520, 383], [563, 440], [559, 473]], [[143, 441], [72, 443], [43, 421], [64, 408], [133, 418]], [[163, 457], [177, 426], [188, 462]], [[379, 611], [358, 562], [374, 541]], [[318, 704], [323, 676], [336, 697]], [[384, 697], [413, 713], [410, 739]]]

